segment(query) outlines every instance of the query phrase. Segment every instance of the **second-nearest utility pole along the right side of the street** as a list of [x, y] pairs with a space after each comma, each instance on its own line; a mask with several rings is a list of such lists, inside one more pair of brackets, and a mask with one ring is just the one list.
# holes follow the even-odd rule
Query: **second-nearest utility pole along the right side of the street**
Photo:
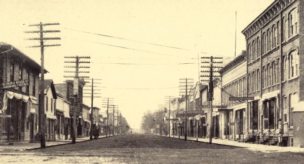
[[[185, 115], [185, 127], [184, 127], [184, 140], [187, 141], [187, 109], [188, 109], [188, 94], [191, 90], [189, 90], [189, 88], [191, 89], [191, 87], [193, 87], [193, 83], [194, 83], [194, 79], [193, 78], [180, 78], [179, 79], [179, 94], [181, 96], [185, 96], [186, 99], [186, 106], [185, 106], [185, 111], [184, 111], [184, 115]], [[189, 90], [189, 91], [188, 91]]]

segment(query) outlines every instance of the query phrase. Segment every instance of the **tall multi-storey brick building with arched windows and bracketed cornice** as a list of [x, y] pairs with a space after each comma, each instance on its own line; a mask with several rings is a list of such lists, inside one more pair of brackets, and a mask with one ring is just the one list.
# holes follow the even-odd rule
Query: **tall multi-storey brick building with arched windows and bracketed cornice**
[[[255, 18], [242, 33], [247, 48], [247, 94], [249, 102], [247, 128], [260, 142], [277, 144], [287, 140], [292, 146], [304, 145], [304, 2], [277, 0]], [[248, 121], [248, 120], [247, 120]]]

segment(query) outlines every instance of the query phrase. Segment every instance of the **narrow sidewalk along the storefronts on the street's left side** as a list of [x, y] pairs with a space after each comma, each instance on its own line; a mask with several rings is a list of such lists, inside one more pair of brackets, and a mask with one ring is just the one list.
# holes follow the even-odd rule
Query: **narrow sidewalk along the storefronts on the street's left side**
[[[112, 136], [110, 136], [112, 137]], [[105, 136], [99, 136], [98, 139], [105, 138]], [[90, 137], [84, 138], [76, 138], [76, 142], [84, 142], [90, 141]], [[46, 147], [58, 146], [58, 145], [65, 145], [71, 144], [72, 140], [63, 140], [63, 139], [56, 139], [56, 141], [46, 141]], [[21, 142], [14, 142], [13, 145], [2, 144], [0, 145], [0, 152], [5, 151], [23, 151], [23, 150], [32, 150], [32, 149], [39, 149], [40, 142], [37, 143], [21, 143]]]

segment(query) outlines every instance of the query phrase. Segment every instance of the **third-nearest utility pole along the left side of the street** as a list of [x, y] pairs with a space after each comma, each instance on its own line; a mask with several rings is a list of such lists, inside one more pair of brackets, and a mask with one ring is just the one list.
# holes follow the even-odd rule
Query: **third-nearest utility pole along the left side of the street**
[[[85, 80], [90, 80], [90, 78], [85, 78]], [[94, 82], [94, 80], [101, 80], [101, 79], [97, 79], [97, 78], [91, 78], [91, 82], [90, 81], [85, 81], [85, 83], [91, 83], [91, 86], [84, 86], [84, 87], [91, 87], [91, 89], [84, 89], [84, 91], [91, 91], [91, 93], [83, 93], [83, 94], [90, 94], [91, 96], [83, 96], [83, 97], [88, 97], [91, 98], [91, 114], [90, 114], [90, 140], [93, 140], [93, 99], [94, 98], [100, 98], [100, 96], [94, 96], [94, 94], [101, 94], [101, 93], [94, 93], [94, 91], [100, 91], [100, 90], [96, 90], [94, 89], [94, 87], [99, 87], [99, 86], [94, 86], [96, 84], [101, 84], [101, 83], [96, 83]]]

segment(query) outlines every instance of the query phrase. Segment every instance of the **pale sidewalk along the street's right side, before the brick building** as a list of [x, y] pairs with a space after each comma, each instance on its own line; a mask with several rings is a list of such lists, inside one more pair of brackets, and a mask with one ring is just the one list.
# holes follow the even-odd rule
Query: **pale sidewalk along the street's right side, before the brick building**
[[[169, 137], [169, 136], [163, 136]], [[173, 136], [170, 136], [172, 138]], [[174, 138], [178, 138], [178, 136], [174, 136]], [[184, 139], [183, 136], [180, 136], [180, 139]], [[196, 141], [196, 138], [187, 137], [187, 140]], [[199, 142], [209, 143], [209, 138], [198, 138]], [[300, 147], [280, 147], [280, 146], [269, 146], [269, 145], [261, 145], [261, 144], [253, 144], [253, 143], [243, 143], [233, 140], [224, 140], [224, 139], [212, 139], [212, 144], [218, 145], [227, 145], [227, 146], [235, 146], [247, 148], [250, 150], [258, 150], [263, 152], [271, 152], [271, 151], [279, 151], [279, 152], [304, 152], [304, 148]]]

